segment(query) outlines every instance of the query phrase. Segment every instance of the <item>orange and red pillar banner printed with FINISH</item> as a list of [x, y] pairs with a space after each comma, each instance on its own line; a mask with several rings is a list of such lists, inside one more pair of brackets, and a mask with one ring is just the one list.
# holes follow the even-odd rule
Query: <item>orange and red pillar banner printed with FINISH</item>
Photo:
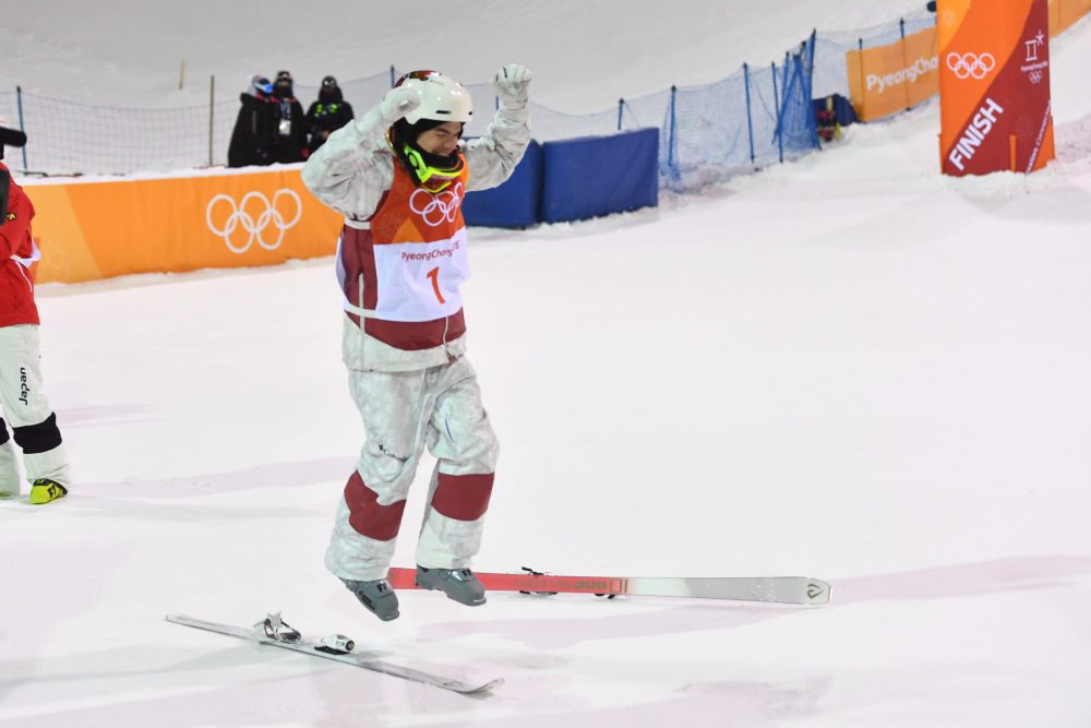
[[940, 0], [945, 175], [1030, 172], [1053, 158], [1046, 0]]

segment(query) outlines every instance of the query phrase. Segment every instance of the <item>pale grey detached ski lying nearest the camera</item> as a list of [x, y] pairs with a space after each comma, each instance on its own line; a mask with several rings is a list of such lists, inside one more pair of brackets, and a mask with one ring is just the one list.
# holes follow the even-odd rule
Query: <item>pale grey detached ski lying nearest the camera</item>
[[[194, 617], [187, 617], [185, 614], [167, 614], [167, 621], [173, 622], [175, 624], [182, 624], [184, 626], [193, 626], [199, 630], [216, 632], [217, 634], [226, 634], [231, 637], [238, 637], [240, 640], [255, 642], [262, 645], [281, 647], [284, 649], [303, 653], [304, 655], [311, 655], [312, 657], [322, 657], [323, 659], [332, 659], [346, 665], [355, 665], [356, 667], [362, 667], [365, 670], [393, 675], [397, 678], [412, 680], [413, 682], [420, 682], [425, 685], [443, 688], [444, 690], [451, 690], [464, 695], [481, 693], [487, 690], [491, 690], [503, 682], [502, 679], [499, 679], [481, 684], [467, 683], [461, 680], [453, 680], [432, 672], [423, 672], [421, 670], [401, 667], [400, 665], [394, 665], [393, 663], [386, 663], [365, 655], [353, 655], [351, 653], [351, 649], [355, 646], [352, 641], [344, 637], [343, 635], [333, 635], [334, 637], [337, 637], [337, 640], [333, 642], [335, 642], [339, 648], [331, 648], [327, 646], [327, 644], [331, 643], [331, 640], [305, 640], [299, 634], [299, 632], [281, 622], [279, 614], [269, 614], [264, 623], [259, 622], [253, 628], [209, 622]], [[346, 643], [347, 646], [345, 646]]]

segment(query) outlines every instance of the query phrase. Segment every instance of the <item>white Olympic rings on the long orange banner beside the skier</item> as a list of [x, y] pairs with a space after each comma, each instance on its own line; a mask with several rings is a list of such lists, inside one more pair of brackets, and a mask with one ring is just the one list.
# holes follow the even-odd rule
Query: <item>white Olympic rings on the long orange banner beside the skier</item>
[[284, 234], [299, 223], [302, 214], [299, 195], [283, 189], [272, 201], [261, 192], [247, 192], [239, 203], [229, 194], [217, 194], [205, 208], [205, 222], [228, 250], [241, 255], [255, 242], [265, 250], [279, 248]]

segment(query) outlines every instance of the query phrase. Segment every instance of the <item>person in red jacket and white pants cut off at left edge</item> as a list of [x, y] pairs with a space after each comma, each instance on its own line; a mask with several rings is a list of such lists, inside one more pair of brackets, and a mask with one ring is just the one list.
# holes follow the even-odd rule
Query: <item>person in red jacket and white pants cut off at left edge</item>
[[[0, 127], [7, 126], [0, 119]], [[0, 162], [0, 180], [8, 179], [8, 167]], [[31, 238], [34, 205], [14, 180], [7, 183], [8, 206], [0, 219], [0, 499], [21, 491], [7, 418], [23, 451], [31, 502], [41, 504], [68, 493], [69, 465], [57, 416], [41, 391], [39, 319], [31, 277], [31, 264], [40, 258]]]

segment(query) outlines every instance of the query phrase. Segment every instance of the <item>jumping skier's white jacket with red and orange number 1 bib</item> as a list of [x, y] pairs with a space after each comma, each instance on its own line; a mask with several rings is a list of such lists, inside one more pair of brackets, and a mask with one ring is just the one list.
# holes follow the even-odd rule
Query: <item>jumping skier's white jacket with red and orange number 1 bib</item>
[[502, 106], [484, 135], [463, 145], [461, 177], [437, 193], [395, 158], [377, 108], [329, 134], [303, 165], [307, 188], [345, 216], [337, 273], [350, 369], [412, 371], [466, 351], [463, 198], [511, 177], [530, 143], [528, 117], [525, 105]]

